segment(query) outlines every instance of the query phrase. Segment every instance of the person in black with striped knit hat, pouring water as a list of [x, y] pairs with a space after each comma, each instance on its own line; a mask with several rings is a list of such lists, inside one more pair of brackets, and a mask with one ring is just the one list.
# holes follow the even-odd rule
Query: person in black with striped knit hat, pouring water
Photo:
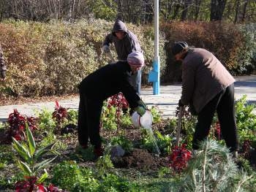
[[105, 99], [123, 93], [129, 102], [129, 107], [143, 115], [146, 105], [131, 85], [131, 75], [143, 66], [143, 54], [133, 52], [128, 55], [127, 61], [118, 61], [108, 64], [89, 74], [80, 82], [80, 103], [78, 110], [78, 142], [83, 148], [88, 147], [90, 140], [94, 145], [96, 157], [102, 155], [102, 141], [99, 136], [100, 115]]

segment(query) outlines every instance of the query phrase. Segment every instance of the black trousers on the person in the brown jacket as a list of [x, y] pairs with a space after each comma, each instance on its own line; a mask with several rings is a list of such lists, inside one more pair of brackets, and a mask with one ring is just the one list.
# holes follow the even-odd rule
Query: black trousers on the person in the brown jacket
[[208, 136], [214, 113], [217, 112], [221, 134], [230, 151], [238, 150], [238, 134], [235, 116], [234, 84], [225, 88], [203, 107], [197, 116], [197, 125], [192, 141], [193, 149]]

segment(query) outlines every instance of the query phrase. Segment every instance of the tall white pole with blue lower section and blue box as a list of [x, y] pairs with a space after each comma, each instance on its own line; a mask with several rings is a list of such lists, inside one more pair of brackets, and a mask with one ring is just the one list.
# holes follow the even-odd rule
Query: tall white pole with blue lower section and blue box
[[154, 0], [154, 61], [153, 70], [148, 74], [148, 82], [153, 82], [153, 94], [160, 93], [160, 59], [159, 59], [159, 0]]

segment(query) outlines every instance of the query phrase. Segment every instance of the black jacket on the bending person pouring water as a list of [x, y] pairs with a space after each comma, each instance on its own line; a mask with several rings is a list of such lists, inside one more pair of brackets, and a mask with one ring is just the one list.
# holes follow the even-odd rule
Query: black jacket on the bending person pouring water
[[104, 101], [116, 93], [123, 93], [129, 102], [129, 107], [138, 107], [140, 97], [130, 82], [132, 71], [127, 61], [108, 64], [89, 74], [80, 82], [80, 93], [90, 99]]

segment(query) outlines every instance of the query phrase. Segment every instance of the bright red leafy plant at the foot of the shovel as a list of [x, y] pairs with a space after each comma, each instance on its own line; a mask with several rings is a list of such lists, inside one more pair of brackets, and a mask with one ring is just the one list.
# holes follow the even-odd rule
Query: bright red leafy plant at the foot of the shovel
[[176, 172], [181, 172], [187, 167], [191, 157], [192, 153], [186, 149], [185, 144], [182, 144], [181, 147], [175, 146], [169, 157], [170, 167]]

